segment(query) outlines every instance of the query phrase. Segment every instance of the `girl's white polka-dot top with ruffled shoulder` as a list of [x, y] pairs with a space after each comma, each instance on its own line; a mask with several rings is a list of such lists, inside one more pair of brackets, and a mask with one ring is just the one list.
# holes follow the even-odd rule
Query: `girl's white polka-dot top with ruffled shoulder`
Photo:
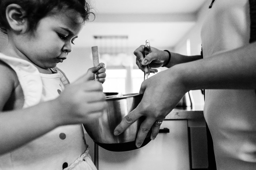
[[[24, 93], [24, 106], [31, 107], [39, 102], [57, 98], [68, 80], [58, 68], [53, 74], [39, 73], [28, 61], [5, 56], [0, 59], [16, 72]], [[82, 169], [96, 169], [88, 157], [82, 124], [55, 128], [47, 134], [11, 151], [0, 155], [0, 169], [64, 169], [74, 162], [87, 163]], [[84, 152], [86, 151], [86, 154]], [[73, 163], [73, 164], [72, 164]], [[83, 164], [84, 164], [83, 163]], [[88, 168], [89, 167], [89, 168]]]

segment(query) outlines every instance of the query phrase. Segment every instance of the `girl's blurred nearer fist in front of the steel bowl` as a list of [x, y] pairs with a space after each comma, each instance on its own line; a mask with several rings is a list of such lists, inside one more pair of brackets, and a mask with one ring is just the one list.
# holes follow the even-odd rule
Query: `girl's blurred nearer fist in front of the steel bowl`
[[101, 116], [107, 106], [105, 95], [102, 92], [102, 85], [91, 80], [91, 74], [83, 75], [66, 86], [55, 100], [54, 105], [58, 109], [54, 120], [58, 121], [57, 125], [87, 124]]

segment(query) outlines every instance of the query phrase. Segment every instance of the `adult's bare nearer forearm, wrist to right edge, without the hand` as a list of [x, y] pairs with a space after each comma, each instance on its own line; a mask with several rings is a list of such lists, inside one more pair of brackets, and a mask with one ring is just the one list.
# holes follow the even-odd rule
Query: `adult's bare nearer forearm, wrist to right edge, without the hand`
[[255, 89], [255, 43], [207, 59], [176, 65], [189, 89]]

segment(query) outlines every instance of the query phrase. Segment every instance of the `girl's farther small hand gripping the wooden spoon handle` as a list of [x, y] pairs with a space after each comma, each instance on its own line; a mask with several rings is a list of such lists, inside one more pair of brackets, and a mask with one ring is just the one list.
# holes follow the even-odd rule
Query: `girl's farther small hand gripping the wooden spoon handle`
[[94, 74], [96, 74], [96, 79], [98, 82], [100, 83], [104, 83], [105, 82], [105, 78], [106, 78], [106, 69], [105, 69], [105, 64], [104, 63], [100, 63], [99, 66], [97, 67], [92, 67], [90, 69], [88, 69], [87, 74], [89, 74], [90, 76], [90, 80], [94, 80]]

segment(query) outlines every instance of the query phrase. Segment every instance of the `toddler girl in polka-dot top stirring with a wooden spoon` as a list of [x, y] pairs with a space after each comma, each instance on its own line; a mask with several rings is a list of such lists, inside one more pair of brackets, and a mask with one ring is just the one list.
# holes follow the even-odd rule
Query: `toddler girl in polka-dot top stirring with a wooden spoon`
[[82, 124], [106, 107], [94, 80], [105, 81], [104, 64], [72, 84], [56, 67], [89, 10], [84, 0], [1, 0], [0, 169], [96, 169]]

